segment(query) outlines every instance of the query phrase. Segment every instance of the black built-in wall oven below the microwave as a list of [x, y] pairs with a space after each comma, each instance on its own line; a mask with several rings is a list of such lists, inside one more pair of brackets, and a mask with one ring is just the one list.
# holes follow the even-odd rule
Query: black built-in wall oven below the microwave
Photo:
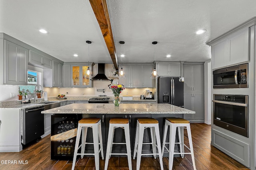
[[214, 94], [213, 124], [248, 137], [248, 95]]

